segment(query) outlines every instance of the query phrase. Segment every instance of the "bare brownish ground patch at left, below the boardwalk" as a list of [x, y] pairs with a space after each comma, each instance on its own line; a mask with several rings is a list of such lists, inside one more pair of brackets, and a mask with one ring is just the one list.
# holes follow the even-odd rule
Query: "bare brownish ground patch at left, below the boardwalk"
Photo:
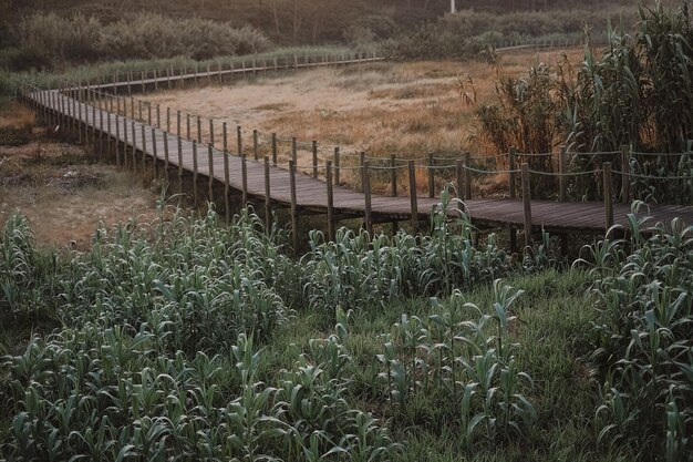
[[87, 249], [100, 226], [155, 218], [156, 193], [80, 146], [43, 140], [0, 146], [0, 227], [13, 213], [42, 247]]

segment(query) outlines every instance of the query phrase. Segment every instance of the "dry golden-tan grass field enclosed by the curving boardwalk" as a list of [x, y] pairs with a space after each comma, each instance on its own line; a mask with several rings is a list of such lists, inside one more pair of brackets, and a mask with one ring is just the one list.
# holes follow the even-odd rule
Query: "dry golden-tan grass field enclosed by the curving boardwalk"
[[[248, 134], [258, 130], [262, 140], [272, 132], [283, 140], [317, 140], [322, 154], [333, 145], [342, 152], [408, 157], [427, 152], [479, 153], [490, 147], [476, 140], [475, 105], [468, 104], [463, 92], [477, 103], [490, 103], [498, 75], [517, 75], [539, 62], [555, 64], [561, 54], [560, 50], [500, 53], [497, 66], [478, 60], [318, 69], [226, 86], [166, 91], [146, 99], [162, 110], [170, 107], [172, 113], [179, 110], [226, 122], [230, 131], [236, 125]], [[567, 54], [576, 63], [582, 50]], [[206, 123], [203, 131], [206, 137]], [[299, 164], [302, 161], [308, 158], [299, 155]]]

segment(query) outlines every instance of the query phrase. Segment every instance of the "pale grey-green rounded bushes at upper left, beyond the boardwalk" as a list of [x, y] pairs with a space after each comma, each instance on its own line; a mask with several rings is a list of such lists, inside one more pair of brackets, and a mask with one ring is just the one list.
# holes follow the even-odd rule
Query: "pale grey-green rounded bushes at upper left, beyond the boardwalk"
[[21, 21], [17, 35], [21, 45], [0, 53], [0, 66], [13, 71], [41, 70], [63, 62], [174, 57], [206, 60], [271, 48], [269, 39], [251, 27], [155, 13], [125, 14], [113, 22], [81, 14], [34, 13]]

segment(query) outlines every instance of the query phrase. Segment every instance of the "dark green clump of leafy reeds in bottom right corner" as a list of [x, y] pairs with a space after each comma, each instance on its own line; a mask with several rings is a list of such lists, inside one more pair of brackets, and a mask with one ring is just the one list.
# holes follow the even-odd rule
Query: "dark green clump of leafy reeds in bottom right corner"
[[[602, 372], [602, 444], [635, 442], [648, 460], [693, 451], [693, 227], [629, 216], [627, 239], [591, 249], [599, 319], [592, 360]], [[687, 455], [686, 455], [687, 454]]]

